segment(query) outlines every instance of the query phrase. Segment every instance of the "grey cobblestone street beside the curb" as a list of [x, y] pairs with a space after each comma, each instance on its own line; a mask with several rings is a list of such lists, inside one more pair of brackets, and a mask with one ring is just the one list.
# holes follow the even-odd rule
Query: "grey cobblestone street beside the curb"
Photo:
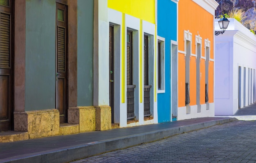
[[72, 163], [256, 163], [256, 121], [234, 121]]

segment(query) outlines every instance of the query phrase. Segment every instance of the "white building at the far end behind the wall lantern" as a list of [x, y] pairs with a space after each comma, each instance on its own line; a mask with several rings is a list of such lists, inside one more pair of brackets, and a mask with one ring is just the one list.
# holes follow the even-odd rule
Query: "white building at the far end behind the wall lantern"
[[[256, 102], [256, 36], [234, 18], [215, 36], [215, 115], [234, 115]], [[215, 31], [220, 31], [215, 20]]]

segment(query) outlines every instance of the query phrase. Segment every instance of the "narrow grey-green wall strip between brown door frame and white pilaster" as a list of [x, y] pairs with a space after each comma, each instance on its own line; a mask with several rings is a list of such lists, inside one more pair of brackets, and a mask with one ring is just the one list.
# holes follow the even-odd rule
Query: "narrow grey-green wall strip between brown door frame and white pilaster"
[[77, 105], [93, 105], [94, 1], [77, 1]]

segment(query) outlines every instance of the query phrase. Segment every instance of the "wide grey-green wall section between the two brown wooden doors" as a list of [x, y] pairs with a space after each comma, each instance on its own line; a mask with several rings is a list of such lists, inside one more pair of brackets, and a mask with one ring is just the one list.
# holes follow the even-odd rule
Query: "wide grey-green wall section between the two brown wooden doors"
[[55, 12], [55, 0], [26, 1], [26, 111], [55, 108]]

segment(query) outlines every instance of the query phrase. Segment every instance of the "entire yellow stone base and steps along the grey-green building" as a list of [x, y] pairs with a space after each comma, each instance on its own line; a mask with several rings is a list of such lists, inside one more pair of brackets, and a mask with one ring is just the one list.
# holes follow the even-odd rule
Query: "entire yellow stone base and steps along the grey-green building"
[[[0, 133], [0, 142], [112, 129], [110, 106], [71, 107], [68, 123], [60, 125], [58, 109], [14, 112], [13, 134]], [[116, 126], [117, 127], [117, 126]], [[119, 125], [118, 125], [119, 127]], [[7, 134], [11, 133], [11, 134]]]

